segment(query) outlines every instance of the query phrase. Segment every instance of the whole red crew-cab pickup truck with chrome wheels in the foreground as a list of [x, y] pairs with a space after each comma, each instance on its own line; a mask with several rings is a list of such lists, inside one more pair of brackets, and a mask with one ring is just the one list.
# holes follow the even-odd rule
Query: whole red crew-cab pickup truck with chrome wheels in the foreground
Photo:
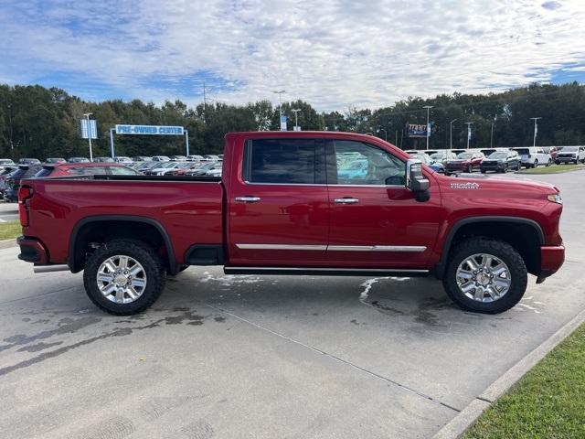
[[90, 299], [143, 311], [166, 274], [424, 276], [499, 313], [558, 271], [562, 200], [548, 184], [445, 177], [393, 145], [334, 132], [227, 134], [222, 177], [23, 180], [19, 258], [84, 270]]

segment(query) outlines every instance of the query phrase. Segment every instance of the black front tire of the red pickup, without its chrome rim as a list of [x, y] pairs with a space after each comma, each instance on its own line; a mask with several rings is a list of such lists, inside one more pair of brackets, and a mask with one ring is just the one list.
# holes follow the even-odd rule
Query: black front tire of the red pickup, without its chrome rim
[[[493, 302], [480, 302], [467, 297], [460, 290], [456, 273], [459, 264], [475, 253], [486, 253], [504, 262], [510, 272], [508, 292]], [[527, 267], [522, 256], [510, 244], [492, 238], [470, 238], [454, 248], [449, 256], [442, 284], [451, 300], [467, 311], [484, 314], [502, 313], [516, 305], [527, 289]]]

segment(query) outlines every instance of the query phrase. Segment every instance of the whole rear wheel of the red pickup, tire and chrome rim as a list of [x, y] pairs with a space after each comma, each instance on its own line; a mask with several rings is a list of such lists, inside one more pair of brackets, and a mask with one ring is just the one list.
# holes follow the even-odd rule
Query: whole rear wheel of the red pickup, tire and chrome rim
[[90, 254], [83, 272], [91, 302], [115, 316], [153, 305], [165, 288], [165, 266], [141, 241], [113, 240]]

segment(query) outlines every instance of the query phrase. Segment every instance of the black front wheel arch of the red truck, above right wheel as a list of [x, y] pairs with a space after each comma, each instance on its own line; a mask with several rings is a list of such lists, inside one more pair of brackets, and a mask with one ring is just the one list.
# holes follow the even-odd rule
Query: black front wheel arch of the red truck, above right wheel
[[[510, 227], [502, 227], [507, 224]], [[527, 264], [528, 273], [540, 272], [540, 246], [545, 243], [542, 228], [533, 219], [520, 217], [485, 216], [460, 219], [443, 241], [441, 259], [434, 273], [442, 279], [450, 253], [458, 242], [473, 236], [499, 239], [512, 245]]]

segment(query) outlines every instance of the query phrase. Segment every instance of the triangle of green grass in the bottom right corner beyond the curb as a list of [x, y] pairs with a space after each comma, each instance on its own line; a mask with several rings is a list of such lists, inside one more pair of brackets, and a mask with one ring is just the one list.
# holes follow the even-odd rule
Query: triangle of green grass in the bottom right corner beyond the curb
[[484, 412], [463, 438], [585, 438], [585, 325]]

